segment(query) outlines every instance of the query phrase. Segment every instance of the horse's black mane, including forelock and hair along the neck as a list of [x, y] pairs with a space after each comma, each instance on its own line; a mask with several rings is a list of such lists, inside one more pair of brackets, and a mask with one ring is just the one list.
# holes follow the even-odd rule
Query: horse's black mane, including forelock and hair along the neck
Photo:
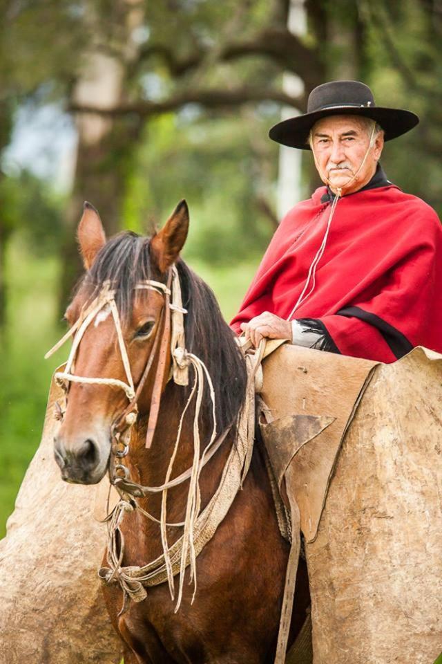
[[[211, 288], [182, 259], [176, 263], [182, 289], [187, 351], [198, 356], [211, 376], [216, 399], [218, 434], [236, 423], [244, 403], [247, 374], [235, 333], [222, 317]], [[145, 279], [165, 281], [150, 255], [150, 238], [123, 232], [99, 251], [81, 286], [95, 295], [104, 282], [115, 289], [115, 302], [122, 320], [131, 313], [135, 286]], [[190, 380], [192, 382], [192, 378]], [[183, 388], [184, 389], [184, 388]], [[190, 389], [184, 389], [188, 393]], [[186, 394], [183, 394], [186, 397]], [[203, 416], [210, 417], [209, 393], [204, 393]]]

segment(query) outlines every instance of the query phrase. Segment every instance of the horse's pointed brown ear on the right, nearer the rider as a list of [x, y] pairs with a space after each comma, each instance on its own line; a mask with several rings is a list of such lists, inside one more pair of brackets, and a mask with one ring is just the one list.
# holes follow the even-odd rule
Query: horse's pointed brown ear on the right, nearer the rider
[[180, 201], [163, 228], [151, 240], [151, 256], [164, 273], [180, 255], [189, 230], [189, 208]]

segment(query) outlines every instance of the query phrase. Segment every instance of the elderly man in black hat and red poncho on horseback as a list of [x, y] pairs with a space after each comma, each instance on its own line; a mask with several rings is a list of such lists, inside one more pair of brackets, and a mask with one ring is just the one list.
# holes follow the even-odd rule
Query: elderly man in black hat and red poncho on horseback
[[[231, 325], [263, 337], [393, 362], [414, 346], [442, 351], [442, 229], [379, 165], [385, 140], [419, 118], [376, 107], [357, 81], [311, 92], [305, 115], [273, 140], [311, 149], [325, 183], [283, 219]], [[404, 155], [404, 158], [407, 156]]]

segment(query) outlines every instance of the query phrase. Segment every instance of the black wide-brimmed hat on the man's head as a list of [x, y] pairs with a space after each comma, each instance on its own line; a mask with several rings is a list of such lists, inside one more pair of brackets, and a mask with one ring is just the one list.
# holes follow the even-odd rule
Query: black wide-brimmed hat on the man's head
[[372, 91], [364, 83], [332, 81], [311, 91], [307, 113], [278, 122], [271, 127], [269, 136], [282, 145], [308, 150], [311, 127], [320, 118], [328, 116], [363, 116], [376, 120], [385, 132], [384, 140], [402, 136], [419, 122], [412, 111], [376, 106]]

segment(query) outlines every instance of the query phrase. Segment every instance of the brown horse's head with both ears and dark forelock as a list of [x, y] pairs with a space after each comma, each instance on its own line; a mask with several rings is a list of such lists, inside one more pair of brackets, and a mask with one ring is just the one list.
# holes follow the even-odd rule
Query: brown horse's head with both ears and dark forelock
[[[166, 326], [167, 275], [188, 227], [182, 201], [151, 239], [126, 232], [106, 242], [97, 212], [85, 204], [78, 239], [86, 275], [66, 311], [68, 323], [77, 328], [74, 347], [77, 341], [79, 345], [68, 360], [66, 410], [55, 436], [55, 459], [66, 481], [92, 484], [102, 479], [111, 432], [140, 381], [136, 408], [141, 413], [149, 409]], [[155, 282], [157, 287], [146, 287]], [[170, 361], [167, 353], [165, 377]], [[78, 377], [86, 380], [76, 382]]]

